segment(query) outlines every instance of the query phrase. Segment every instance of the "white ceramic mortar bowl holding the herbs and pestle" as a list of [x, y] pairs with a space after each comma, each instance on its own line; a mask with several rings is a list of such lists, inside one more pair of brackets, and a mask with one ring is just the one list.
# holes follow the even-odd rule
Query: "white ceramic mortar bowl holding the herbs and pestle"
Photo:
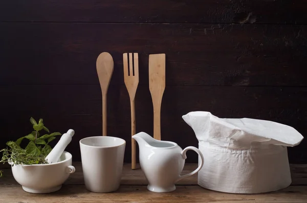
[[15, 165], [12, 166], [15, 180], [30, 193], [51, 193], [59, 190], [71, 173], [72, 154], [64, 151], [60, 162], [53, 164]]

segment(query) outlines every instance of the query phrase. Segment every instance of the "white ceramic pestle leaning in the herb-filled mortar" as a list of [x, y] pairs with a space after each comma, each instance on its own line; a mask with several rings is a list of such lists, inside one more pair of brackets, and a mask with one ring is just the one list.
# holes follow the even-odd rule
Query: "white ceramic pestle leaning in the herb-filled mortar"
[[67, 133], [64, 133], [59, 142], [54, 146], [51, 152], [46, 156], [46, 160], [49, 164], [56, 163], [60, 159], [63, 151], [67, 147], [67, 145], [72, 141], [72, 137], [74, 136], [75, 131], [73, 129], [69, 129]]

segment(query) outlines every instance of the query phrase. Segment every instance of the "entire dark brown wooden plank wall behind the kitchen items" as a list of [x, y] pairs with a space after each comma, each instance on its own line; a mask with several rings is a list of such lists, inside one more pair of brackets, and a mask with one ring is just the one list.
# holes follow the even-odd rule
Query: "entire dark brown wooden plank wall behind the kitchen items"
[[[181, 116], [211, 111], [271, 120], [307, 133], [307, 4], [303, 0], [11, 0], [0, 2], [1, 144], [31, 131], [30, 117], [52, 131], [73, 128], [67, 150], [101, 132], [96, 58], [109, 52], [108, 134], [127, 141], [130, 106], [122, 53], [138, 52], [137, 131], [153, 132], [148, 55], [166, 54], [162, 139], [198, 146]], [[307, 141], [289, 148], [307, 163]], [[206, 154], [205, 154], [206, 155]], [[189, 152], [187, 162], [196, 162]]]

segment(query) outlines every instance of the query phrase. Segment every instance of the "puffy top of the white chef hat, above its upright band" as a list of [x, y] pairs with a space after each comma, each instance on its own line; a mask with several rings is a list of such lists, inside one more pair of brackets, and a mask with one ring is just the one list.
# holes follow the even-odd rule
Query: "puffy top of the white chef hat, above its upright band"
[[230, 149], [251, 149], [266, 145], [295, 146], [303, 137], [293, 127], [257, 119], [226, 119], [207, 111], [193, 111], [183, 116], [199, 142]]

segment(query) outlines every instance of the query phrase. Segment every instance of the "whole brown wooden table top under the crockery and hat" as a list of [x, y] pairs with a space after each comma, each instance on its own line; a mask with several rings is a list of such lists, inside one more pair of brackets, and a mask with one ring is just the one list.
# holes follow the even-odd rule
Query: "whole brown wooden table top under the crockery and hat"
[[[307, 165], [291, 165], [291, 186], [265, 194], [229, 194], [207, 190], [198, 186], [197, 175], [178, 182], [176, 191], [154, 193], [146, 189], [147, 180], [142, 170], [131, 170], [130, 164], [124, 164], [121, 186], [116, 192], [93, 193], [84, 187], [81, 163], [73, 165], [76, 172], [59, 191], [49, 194], [25, 192], [15, 181], [11, 169], [2, 169], [0, 202], [307, 202]], [[195, 168], [196, 164], [186, 164], [183, 173]]]

